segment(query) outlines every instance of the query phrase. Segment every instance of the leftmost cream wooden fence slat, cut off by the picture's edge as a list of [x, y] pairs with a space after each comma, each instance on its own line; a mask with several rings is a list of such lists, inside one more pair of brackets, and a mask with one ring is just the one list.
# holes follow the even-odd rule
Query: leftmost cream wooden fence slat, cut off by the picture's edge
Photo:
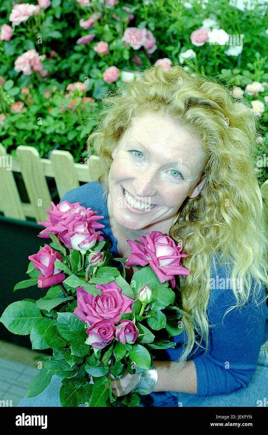
[[[12, 173], [13, 157], [0, 144], [0, 207], [7, 218], [26, 221], [20, 195]], [[9, 169], [10, 168], [10, 169]]]

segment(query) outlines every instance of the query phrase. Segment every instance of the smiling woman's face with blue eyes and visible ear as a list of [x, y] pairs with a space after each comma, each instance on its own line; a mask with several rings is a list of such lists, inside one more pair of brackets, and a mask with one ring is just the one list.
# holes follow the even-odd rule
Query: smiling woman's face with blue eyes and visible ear
[[206, 181], [200, 180], [206, 158], [201, 143], [167, 115], [133, 118], [112, 158], [113, 218], [131, 230], [157, 222], [170, 228], [185, 198], [196, 197]]

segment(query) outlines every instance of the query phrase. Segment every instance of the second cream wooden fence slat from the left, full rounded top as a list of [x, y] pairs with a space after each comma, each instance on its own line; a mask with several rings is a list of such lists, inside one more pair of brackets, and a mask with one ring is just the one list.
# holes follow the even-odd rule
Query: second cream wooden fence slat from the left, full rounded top
[[19, 145], [16, 155], [20, 160], [23, 181], [33, 206], [33, 217], [38, 221], [46, 221], [46, 208], [51, 208], [52, 201], [46, 178], [43, 175], [39, 152], [35, 147]]

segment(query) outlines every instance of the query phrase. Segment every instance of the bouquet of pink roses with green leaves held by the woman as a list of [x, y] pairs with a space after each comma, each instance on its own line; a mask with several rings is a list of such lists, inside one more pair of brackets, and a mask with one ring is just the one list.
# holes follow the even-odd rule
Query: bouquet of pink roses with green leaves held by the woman
[[[180, 261], [183, 247], [153, 231], [141, 243], [128, 241], [128, 259], [113, 258], [111, 243], [96, 231], [104, 228], [97, 222], [103, 216], [80, 202], [51, 205], [47, 221], [38, 224], [46, 227], [39, 237], [52, 242], [29, 256], [30, 278], [14, 287], [38, 284], [44, 297], [13, 302], [0, 318], [14, 334], [30, 334], [33, 349], [53, 349], [27, 397], [39, 395], [55, 374], [62, 378], [61, 406], [139, 406], [136, 393], [114, 396], [111, 376], [141, 373], [155, 349], [175, 347], [154, 331], [166, 328], [169, 337], [182, 332], [173, 289], [175, 275], [190, 274]], [[124, 264], [138, 269], [130, 284]]]

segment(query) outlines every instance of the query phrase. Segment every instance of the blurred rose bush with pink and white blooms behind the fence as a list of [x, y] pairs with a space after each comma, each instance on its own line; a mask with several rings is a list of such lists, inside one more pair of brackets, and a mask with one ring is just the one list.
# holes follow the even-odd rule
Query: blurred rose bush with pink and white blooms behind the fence
[[[101, 98], [160, 65], [217, 77], [268, 127], [267, 7], [238, 0], [3, 0], [0, 137], [83, 161]], [[254, 3], [254, 2], [253, 2]], [[137, 77], [137, 78], [136, 78]], [[268, 142], [266, 133], [259, 150]], [[265, 177], [266, 176], [266, 169]]]

